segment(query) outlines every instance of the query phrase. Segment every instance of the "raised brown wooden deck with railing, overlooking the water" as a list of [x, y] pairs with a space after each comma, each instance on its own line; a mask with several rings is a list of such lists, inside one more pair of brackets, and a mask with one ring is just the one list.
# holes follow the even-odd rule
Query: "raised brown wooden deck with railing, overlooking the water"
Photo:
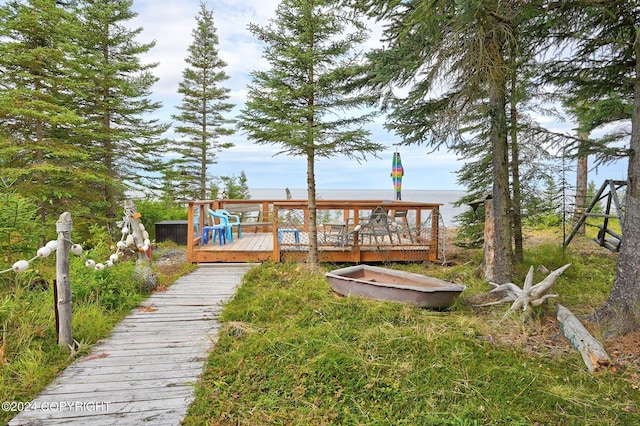
[[[365, 215], [384, 206], [390, 220], [402, 225], [375, 241], [358, 231]], [[384, 200], [318, 200], [318, 257], [321, 262], [362, 263], [438, 260], [441, 204]], [[234, 227], [233, 242], [201, 244], [195, 229], [211, 225], [207, 209], [228, 209], [242, 217], [255, 213], [259, 225], [241, 219], [242, 238]], [[403, 212], [401, 219], [394, 219]], [[432, 220], [432, 218], [436, 218]], [[299, 237], [296, 242], [292, 235]], [[409, 236], [411, 234], [411, 237]], [[309, 252], [309, 211], [306, 200], [216, 200], [189, 203], [188, 260], [193, 263], [304, 261]], [[281, 238], [278, 238], [278, 237]], [[333, 239], [332, 239], [333, 238]]]

